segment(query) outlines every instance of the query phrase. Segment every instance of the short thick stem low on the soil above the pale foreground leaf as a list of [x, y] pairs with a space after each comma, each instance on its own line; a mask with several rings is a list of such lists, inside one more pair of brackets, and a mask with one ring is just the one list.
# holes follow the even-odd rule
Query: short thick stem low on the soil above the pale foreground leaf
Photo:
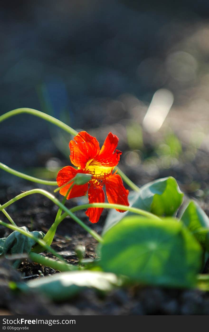
[[75, 270], [79, 269], [77, 266], [74, 266], [72, 264], [57, 261], [57, 260], [49, 258], [49, 257], [38, 255], [34, 252], [30, 252], [28, 254], [28, 256], [33, 262], [50, 267], [50, 268], [52, 268], [54, 270], [58, 270], [60, 272], [75, 271]]

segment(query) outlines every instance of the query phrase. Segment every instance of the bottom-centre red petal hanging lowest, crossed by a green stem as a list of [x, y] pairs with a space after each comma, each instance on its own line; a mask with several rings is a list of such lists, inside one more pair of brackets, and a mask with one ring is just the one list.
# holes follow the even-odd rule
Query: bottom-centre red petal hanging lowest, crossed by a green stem
[[[105, 202], [105, 193], [102, 189], [102, 186], [95, 186], [91, 184], [89, 187], [89, 203], [104, 203]], [[85, 212], [86, 215], [89, 217], [89, 220], [92, 223], [96, 223], [99, 221], [102, 211], [104, 208], [100, 207], [89, 207]]]

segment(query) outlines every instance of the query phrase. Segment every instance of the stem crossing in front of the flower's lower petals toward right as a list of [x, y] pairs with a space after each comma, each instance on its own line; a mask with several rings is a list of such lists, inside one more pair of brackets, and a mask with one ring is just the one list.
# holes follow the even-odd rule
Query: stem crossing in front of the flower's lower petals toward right
[[[156, 219], [156, 220], [161, 220], [158, 216], [156, 216], [153, 213], [150, 213], [148, 211], [142, 210], [137, 207], [128, 207], [126, 205], [120, 205], [120, 204], [108, 204], [108, 203], [92, 203], [92, 204], [83, 204], [83, 205], [78, 205], [76, 207], [72, 207], [70, 209], [71, 212], [79, 211], [82, 209], [86, 209], [89, 207], [103, 207], [103, 208], [114, 208], [114, 209], [119, 209], [119, 210], [124, 210], [124, 211], [130, 211], [133, 213], [141, 214], [146, 217]], [[59, 219], [59, 222], [61, 222], [64, 218], [66, 218], [67, 213], [63, 213]]]

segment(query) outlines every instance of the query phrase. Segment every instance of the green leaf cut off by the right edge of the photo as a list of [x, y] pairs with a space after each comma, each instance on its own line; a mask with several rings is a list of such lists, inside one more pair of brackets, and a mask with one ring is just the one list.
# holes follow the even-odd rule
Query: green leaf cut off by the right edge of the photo
[[181, 216], [181, 221], [194, 234], [203, 248], [209, 251], [209, 218], [201, 207], [194, 201], [190, 201]]

